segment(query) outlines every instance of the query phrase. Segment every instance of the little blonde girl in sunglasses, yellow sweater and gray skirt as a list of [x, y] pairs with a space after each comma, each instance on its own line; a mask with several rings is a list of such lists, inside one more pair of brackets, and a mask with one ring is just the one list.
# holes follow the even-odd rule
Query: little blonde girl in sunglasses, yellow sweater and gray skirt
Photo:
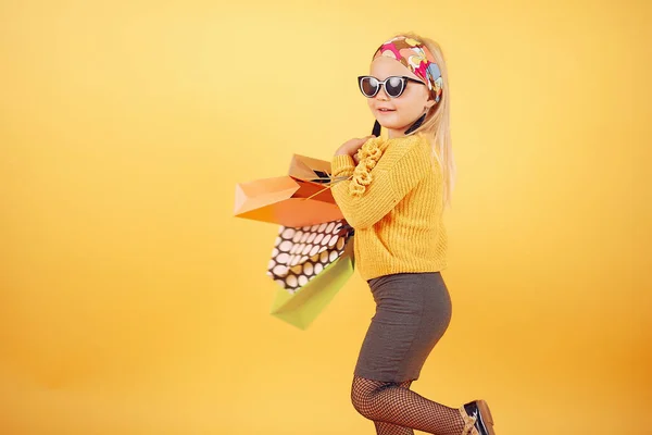
[[[355, 260], [376, 313], [354, 370], [351, 400], [381, 435], [494, 435], [487, 402], [459, 408], [410, 385], [451, 320], [440, 271], [454, 164], [448, 73], [437, 42], [403, 34], [374, 53], [358, 77], [374, 134], [343, 144], [331, 161], [333, 196], [355, 229]], [[380, 138], [380, 126], [388, 133]]]

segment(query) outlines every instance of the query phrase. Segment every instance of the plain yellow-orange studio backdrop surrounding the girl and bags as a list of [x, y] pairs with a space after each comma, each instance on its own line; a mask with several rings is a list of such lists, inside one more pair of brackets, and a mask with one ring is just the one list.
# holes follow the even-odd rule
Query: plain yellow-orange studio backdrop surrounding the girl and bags
[[[647, 1], [0, 3], [0, 433], [372, 434], [355, 275], [268, 314], [237, 182], [373, 119], [396, 32], [443, 46], [449, 331], [413, 389], [505, 434], [652, 433]], [[647, 201], [647, 202], [645, 202]]]

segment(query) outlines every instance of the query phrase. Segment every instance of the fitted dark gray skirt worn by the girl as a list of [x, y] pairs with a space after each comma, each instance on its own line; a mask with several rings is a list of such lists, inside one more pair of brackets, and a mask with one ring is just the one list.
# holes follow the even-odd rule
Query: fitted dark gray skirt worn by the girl
[[376, 313], [354, 374], [381, 382], [417, 380], [451, 321], [451, 298], [441, 274], [398, 273], [367, 283]]

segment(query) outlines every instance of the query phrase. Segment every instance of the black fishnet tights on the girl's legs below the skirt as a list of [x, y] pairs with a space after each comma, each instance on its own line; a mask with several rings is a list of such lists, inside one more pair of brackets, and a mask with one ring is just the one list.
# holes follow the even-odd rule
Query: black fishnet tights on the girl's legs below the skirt
[[414, 435], [414, 428], [437, 435], [460, 435], [464, 419], [459, 409], [439, 405], [401, 384], [353, 376], [351, 401], [373, 420], [378, 435]]

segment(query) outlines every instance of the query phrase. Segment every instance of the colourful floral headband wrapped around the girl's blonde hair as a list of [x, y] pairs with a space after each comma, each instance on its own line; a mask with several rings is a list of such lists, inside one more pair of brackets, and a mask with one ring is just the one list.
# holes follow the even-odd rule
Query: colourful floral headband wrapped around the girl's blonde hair
[[423, 42], [405, 36], [398, 36], [384, 42], [376, 50], [372, 60], [381, 55], [396, 59], [421, 77], [428, 86], [428, 90], [435, 96], [435, 102], [439, 102], [443, 79], [439, 66], [435, 63], [432, 53]]

